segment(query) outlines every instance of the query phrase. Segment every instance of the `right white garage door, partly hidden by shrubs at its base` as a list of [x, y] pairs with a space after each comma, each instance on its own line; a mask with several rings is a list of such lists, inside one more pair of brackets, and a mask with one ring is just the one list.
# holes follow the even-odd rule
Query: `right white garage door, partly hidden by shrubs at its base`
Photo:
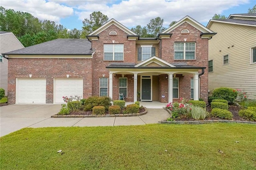
[[83, 97], [83, 79], [54, 79], [54, 103], [64, 103], [63, 96]]

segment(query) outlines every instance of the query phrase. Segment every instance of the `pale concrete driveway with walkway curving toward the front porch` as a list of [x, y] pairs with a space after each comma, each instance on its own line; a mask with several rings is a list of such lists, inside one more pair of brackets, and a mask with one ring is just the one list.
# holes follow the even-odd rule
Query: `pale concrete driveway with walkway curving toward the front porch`
[[51, 118], [61, 105], [7, 105], [0, 107], [0, 136], [25, 127], [92, 127], [145, 125], [158, 123], [170, 117], [164, 109], [148, 109], [148, 113], [136, 117]]

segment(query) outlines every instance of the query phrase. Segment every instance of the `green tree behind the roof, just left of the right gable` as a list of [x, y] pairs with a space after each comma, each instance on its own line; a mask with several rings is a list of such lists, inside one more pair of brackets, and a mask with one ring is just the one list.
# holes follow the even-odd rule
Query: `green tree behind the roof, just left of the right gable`
[[153, 37], [156, 37], [160, 32], [163, 32], [165, 28], [163, 27], [164, 19], [156, 17], [151, 19], [149, 24], [147, 24], [148, 33]]

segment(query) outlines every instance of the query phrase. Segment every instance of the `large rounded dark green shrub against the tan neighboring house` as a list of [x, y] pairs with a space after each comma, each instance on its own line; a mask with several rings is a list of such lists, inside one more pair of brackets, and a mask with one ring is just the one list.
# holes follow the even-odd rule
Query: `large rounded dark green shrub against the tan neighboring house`
[[227, 100], [229, 103], [234, 103], [238, 92], [228, 87], [220, 87], [212, 92], [212, 97], [221, 97]]

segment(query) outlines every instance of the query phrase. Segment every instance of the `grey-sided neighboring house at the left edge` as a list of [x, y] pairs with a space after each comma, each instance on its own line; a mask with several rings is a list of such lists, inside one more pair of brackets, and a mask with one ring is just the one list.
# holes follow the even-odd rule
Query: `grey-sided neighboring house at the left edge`
[[24, 48], [12, 32], [0, 31], [0, 87], [8, 94], [8, 59], [2, 53]]

